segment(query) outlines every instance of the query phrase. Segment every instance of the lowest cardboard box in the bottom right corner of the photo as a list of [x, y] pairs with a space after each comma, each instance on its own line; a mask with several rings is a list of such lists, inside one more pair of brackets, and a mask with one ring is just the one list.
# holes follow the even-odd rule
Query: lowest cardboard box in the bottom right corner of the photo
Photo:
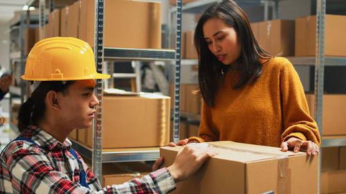
[[322, 172], [320, 181], [321, 194], [346, 192], [346, 170]]

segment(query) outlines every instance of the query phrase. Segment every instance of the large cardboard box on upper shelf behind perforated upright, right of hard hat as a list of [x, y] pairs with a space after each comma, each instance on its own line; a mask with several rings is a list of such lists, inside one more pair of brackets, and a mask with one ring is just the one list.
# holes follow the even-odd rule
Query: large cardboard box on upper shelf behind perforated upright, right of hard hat
[[[79, 38], [93, 47], [95, 1], [81, 1]], [[104, 6], [104, 47], [161, 49], [161, 3], [106, 0]]]

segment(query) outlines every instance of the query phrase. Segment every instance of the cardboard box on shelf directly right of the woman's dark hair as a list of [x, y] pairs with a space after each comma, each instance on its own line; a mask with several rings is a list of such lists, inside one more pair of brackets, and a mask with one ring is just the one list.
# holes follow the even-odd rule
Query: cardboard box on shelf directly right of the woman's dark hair
[[294, 55], [294, 20], [275, 19], [253, 23], [254, 28], [256, 25], [258, 32], [255, 37], [271, 55]]

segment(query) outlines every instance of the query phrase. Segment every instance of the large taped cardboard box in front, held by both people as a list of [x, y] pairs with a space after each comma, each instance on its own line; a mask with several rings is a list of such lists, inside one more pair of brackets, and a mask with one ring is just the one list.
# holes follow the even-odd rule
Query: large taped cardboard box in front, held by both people
[[[208, 145], [206, 148], [219, 155], [188, 180], [177, 183], [172, 193], [318, 193], [318, 156], [227, 141]], [[182, 148], [160, 148], [163, 165], [170, 166]]]

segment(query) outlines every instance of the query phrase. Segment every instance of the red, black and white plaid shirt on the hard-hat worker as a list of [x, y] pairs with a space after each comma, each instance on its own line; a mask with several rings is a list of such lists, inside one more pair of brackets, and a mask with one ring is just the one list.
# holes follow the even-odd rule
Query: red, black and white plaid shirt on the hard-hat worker
[[70, 152], [69, 139], [61, 144], [36, 126], [19, 137], [31, 139], [42, 148], [21, 140], [8, 144], [0, 157], [0, 193], [168, 193], [176, 187], [167, 168], [161, 168], [141, 179], [101, 188], [78, 155], [89, 189], [80, 184], [80, 169]]

